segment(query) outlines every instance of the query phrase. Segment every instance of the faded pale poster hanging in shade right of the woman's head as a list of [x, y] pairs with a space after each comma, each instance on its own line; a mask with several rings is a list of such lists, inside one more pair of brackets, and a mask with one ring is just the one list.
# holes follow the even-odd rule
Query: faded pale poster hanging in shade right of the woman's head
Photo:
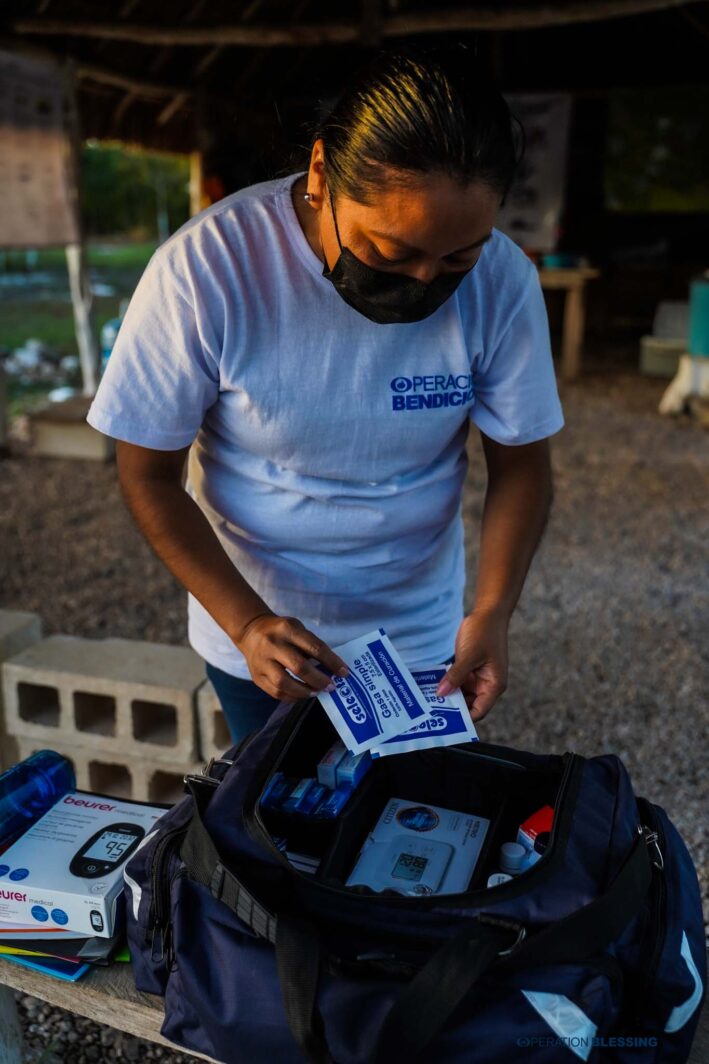
[[572, 98], [567, 93], [505, 94], [524, 127], [525, 154], [496, 228], [527, 251], [554, 251], [564, 206]]

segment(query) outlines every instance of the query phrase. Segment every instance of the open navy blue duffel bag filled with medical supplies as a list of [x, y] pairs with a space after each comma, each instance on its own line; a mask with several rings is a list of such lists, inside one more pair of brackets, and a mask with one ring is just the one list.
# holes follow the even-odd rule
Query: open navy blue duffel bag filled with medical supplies
[[[164, 996], [165, 1037], [226, 1064], [687, 1061], [706, 985], [696, 872], [619, 758], [465, 743], [377, 759], [336, 820], [260, 805], [273, 772], [314, 776], [335, 738], [317, 699], [280, 703], [185, 778], [129, 861], [135, 982]], [[468, 891], [344, 886], [392, 797], [490, 819]], [[544, 804], [542, 858], [488, 887]], [[276, 845], [284, 827], [316, 875]]]

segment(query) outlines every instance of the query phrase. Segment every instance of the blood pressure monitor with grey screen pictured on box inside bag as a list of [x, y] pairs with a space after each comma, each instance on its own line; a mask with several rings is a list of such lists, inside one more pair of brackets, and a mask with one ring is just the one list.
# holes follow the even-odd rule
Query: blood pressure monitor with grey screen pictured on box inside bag
[[447, 843], [412, 835], [396, 835], [388, 843], [372, 843], [361, 853], [347, 886], [396, 891], [414, 897], [436, 894], [454, 855]]

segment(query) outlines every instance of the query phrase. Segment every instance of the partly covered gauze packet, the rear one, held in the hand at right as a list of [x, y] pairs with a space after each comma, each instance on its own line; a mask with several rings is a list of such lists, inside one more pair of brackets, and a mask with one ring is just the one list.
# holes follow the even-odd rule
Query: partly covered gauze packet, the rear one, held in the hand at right
[[448, 671], [445, 665], [412, 672], [412, 676], [430, 708], [430, 714], [402, 735], [394, 735], [372, 750], [373, 758], [390, 753], [408, 753], [429, 746], [451, 746], [454, 743], [473, 743], [478, 733], [471, 719], [471, 711], [460, 687], [442, 697], [435, 694], [441, 678]]

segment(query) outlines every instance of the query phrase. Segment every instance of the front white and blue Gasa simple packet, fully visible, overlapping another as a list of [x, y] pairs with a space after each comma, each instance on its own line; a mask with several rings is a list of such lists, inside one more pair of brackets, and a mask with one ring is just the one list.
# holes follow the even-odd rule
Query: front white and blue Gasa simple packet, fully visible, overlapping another
[[347, 663], [349, 676], [332, 676], [335, 689], [317, 697], [350, 753], [370, 750], [429, 715], [429, 703], [383, 628], [333, 650]]

